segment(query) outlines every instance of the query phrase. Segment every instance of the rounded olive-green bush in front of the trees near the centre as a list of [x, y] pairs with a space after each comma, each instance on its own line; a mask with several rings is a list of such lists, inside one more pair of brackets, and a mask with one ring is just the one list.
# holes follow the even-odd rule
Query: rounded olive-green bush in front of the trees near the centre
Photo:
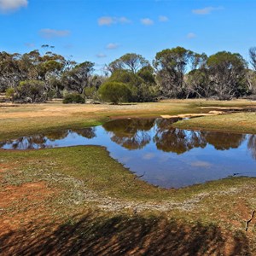
[[102, 84], [99, 89], [100, 97], [103, 101], [113, 102], [129, 102], [131, 99], [131, 90], [123, 83], [107, 82]]

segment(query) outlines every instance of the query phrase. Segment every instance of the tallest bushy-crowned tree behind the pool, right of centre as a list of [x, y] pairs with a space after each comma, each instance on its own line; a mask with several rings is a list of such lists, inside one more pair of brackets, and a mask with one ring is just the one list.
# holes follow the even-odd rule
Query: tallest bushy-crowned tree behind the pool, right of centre
[[183, 47], [164, 49], [155, 55], [154, 68], [163, 96], [183, 97], [183, 78], [192, 57], [193, 52]]

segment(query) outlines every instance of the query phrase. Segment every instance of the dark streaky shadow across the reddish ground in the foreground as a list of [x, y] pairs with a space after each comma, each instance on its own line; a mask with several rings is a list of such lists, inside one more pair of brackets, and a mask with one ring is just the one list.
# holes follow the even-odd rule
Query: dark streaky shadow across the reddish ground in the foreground
[[[56, 224], [55, 224], [56, 225]], [[215, 225], [165, 217], [117, 215], [70, 218], [65, 224], [26, 224], [0, 238], [1, 255], [251, 255], [242, 232], [228, 248]]]

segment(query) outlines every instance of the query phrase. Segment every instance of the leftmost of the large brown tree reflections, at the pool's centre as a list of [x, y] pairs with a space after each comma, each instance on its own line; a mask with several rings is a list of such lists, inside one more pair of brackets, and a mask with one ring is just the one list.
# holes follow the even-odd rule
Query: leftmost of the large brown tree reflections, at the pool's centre
[[111, 140], [127, 149], [144, 148], [151, 140], [148, 131], [154, 126], [154, 119], [118, 119], [103, 125], [112, 133]]

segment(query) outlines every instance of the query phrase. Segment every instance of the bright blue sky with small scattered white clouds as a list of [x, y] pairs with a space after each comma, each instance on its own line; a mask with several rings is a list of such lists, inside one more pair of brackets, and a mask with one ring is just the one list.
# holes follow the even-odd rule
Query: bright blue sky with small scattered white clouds
[[126, 53], [149, 61], [182, 46], [248, 59], [256, 46], [255, 0], [0, 0], [0, 51], [21, 54], [43, 44], [96, 70]]

